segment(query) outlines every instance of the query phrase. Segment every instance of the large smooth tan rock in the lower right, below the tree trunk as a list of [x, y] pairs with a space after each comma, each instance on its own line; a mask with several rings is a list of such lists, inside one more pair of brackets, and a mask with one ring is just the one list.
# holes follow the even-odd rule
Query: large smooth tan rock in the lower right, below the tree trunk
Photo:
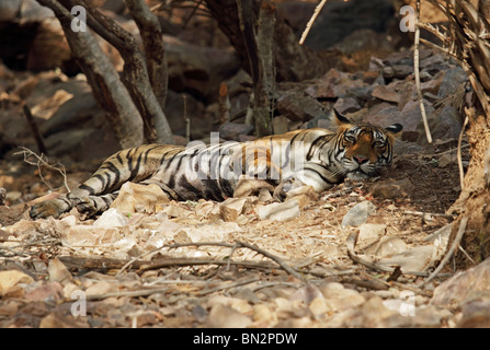
[[[469, 288], [470, 287], [470, 288]], [[463, 302], [490, 294], [490, 258], [466, 270], [459, 271], [434, 290], [431, 304], [456, 307]]]

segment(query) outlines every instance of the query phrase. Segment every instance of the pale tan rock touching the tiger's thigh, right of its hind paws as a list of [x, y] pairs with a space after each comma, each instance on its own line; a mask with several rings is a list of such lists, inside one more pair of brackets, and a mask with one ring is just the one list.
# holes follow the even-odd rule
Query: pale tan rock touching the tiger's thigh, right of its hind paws
[[140, 212], [155, 212], [155, 206], [169, 202], [169, 197], [156, 184], [139, 185], [125, 183], [112, 202], [111, 208], [123, 214]]

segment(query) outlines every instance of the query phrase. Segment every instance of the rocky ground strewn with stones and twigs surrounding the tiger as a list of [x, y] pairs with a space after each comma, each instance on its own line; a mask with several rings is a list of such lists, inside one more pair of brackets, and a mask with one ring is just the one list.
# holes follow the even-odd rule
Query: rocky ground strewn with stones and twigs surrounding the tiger
[[[32, 221], [26, 213], [37, 197], [73, 188], [117, 150], [84, 77], [0, 65], [0, 327], [490, 326], [488, 261], [457, 271], [449, 260], [431, 276], [460, 190], [461, 106], [472, 98], [466, 74], [421, 50], [429, 144], [413, 52], [384, 42], [376, 55], [372, 40], [353, 49], [353, 37], [373, 36], [338, 43], [341, 62], [323, 77], [278, 84], [274, 131], [329, 127], [332, 107], [354, 121], [400, 122], [394, 164], [378, 178], [322, 194], [300, 188], [281, 203], [267, 192], [169, 202], [129, 184], [95, 219], [71, 211]], [[184, 101], [193, 139], [218, 129], [224, 139], [252, 138], [242, 113], [250, 77], [226, 45], [196, 40], [166, 37], [170, 85], [179, 88], [166, 110], [175, 141], [184, 142]], [[200, 83], [193, 74], [215, 79]], [[219, 125], [213, 96], [223, 81], [236, 118]], [[36, 156], [23, 103], [49, 160]], [[459, 150], [465, 168], [465, 139]]]

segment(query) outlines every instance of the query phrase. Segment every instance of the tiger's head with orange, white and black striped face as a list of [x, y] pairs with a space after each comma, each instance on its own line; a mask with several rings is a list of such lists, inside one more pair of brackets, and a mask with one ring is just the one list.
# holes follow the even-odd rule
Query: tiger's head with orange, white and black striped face
[[333, 156], [344, 177], [363, 180], [391, 163], [395, 138], [403, 129], [400, 124], [386, 128], [371, 124], [354, 125], [333, 110], [338, 124]]

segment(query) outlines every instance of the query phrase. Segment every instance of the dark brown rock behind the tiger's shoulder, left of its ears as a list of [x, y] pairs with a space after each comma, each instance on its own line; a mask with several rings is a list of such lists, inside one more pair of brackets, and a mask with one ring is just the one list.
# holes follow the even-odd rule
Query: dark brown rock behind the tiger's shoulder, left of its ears
[[324, 115], [322, 105], [304, 93], [289, 93], [277, 98], [277, 112], [293, 121], [308, 121]]

